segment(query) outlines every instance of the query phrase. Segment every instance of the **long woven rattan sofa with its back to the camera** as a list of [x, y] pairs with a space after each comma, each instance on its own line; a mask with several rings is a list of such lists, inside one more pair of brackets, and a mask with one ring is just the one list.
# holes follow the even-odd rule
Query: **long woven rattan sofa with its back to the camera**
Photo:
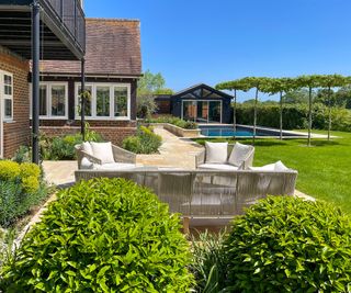
[[125, 178], [151, 189], [172, 213], [183, 217], [233, 217], [267, 195], [293, 195], [297, 171], [179, 170], [135, 168], [123, 171], [78, 170], [76, 181]]

